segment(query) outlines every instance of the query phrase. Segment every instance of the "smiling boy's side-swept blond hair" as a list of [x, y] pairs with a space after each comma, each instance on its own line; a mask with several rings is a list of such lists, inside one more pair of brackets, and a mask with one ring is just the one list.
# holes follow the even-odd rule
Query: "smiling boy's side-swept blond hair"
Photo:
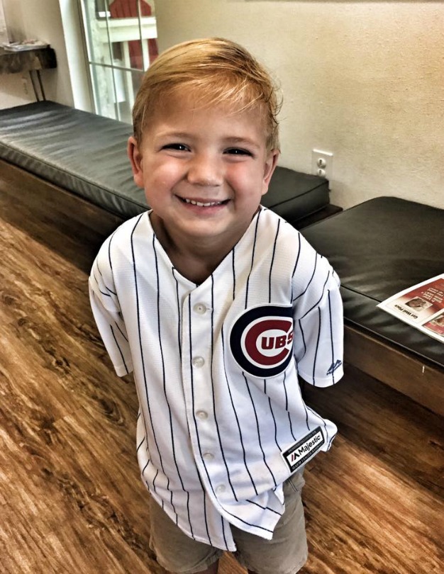
[[233, 113], [257, 108], [265, 118], [267, 150], [279, 149], [280, 102], [270, 74], [245, 48], [223, 38], [175, 45], [148, 68], [133, 107], [139, 145], [156, 107], [181, 90], [194, 91], [196, 106], [224, 103]]

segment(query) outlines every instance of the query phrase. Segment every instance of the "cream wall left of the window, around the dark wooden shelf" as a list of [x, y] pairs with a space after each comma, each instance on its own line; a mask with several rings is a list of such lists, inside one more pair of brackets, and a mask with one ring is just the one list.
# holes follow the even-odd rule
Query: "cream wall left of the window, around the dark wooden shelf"
[[[3, 0], [3, 4], [11, 40], [36, 38], [54, 48], [57, 68], [41, 72], [45, 95], [47, 99], [72, 106], [71, 79], [59, 1]], [[35, 97], [28, 74], [1, 76], [0, 108], [19, 106], [30, 101], [35, 101]]]

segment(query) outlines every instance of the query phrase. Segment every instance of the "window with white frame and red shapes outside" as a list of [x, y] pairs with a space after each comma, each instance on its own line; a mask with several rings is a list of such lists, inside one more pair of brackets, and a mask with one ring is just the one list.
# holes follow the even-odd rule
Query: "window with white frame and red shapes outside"
[[80, 1], [95, 111], [131, 123], [143, 72], [157, 57], [154, 2]]

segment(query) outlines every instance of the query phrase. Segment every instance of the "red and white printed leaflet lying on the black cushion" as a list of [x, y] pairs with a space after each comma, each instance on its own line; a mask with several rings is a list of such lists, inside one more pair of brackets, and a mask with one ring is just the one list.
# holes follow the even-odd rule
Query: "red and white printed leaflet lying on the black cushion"
[[444, 343], [444, 273], [400, 291], [377, 306]]

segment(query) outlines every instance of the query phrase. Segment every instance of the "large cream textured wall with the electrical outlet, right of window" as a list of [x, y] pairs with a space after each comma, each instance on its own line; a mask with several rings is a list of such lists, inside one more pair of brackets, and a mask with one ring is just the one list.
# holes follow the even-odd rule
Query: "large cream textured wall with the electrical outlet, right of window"
[[332, 203], [394, 195], [444, 208], [444, 3], [157, 1], [160, 49], [219, 35], [284, 94], [280, 164], [331, 151]]

